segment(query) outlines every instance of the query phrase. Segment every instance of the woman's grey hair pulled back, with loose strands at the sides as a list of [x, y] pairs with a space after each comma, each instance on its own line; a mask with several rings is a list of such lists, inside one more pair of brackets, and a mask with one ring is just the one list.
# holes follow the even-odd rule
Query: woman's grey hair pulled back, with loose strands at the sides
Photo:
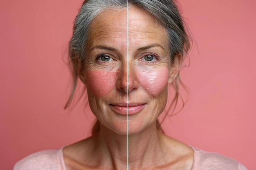
[[[182, 57], [180, 59], [180, 61], [182, 61], [183, 57], [188, 53], [191, 39], [186, 31], [186, 24], [173, 0], [128, 0], [128, 3], [127, 0], [85, 0], [74, 21], [73, 35], [69, 42], [70, 67], [74, 78], [74, 86], [65, 108], [67, 108], [72, 101], [78, 75], [81, 73], [81, 69], [84, 69], [83, 63], [86, 57], [85, 44], [88, 38], [90, 23], [102, 11], [106, 9], [126, 9], [127, 4], [129, 4], [129, 7], [136, 6], [144, 9], [153, 15], [156, 21], [166, 29], [169, 41], [170, 60], [172, 63], [175, 57]], [[82, 68], [79, 68], [78, 64], [80, 64]], [[174, 108], [177, 105], [177, 100], [180, 95], [179, 84], [183, 86], [178, 74], [172, 84], [176, 91], [173, 103], [171, 104], [174, 105]]]

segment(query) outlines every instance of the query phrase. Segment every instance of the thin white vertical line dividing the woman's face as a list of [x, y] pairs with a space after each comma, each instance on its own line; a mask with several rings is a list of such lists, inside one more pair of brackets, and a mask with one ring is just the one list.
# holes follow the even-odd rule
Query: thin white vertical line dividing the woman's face
[[127, 0], [127, 170], [129, 170], [129, 0]]

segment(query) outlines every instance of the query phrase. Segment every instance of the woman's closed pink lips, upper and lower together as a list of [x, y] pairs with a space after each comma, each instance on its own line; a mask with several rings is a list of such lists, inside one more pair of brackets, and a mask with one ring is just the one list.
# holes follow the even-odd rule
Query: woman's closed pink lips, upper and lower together
[[121, 115], [133, 115], [141, 111], [146, 104], [136, 104], [129, 103], [119, 103], [119, 104], [110, 104], [110, 107], [117, 113]]

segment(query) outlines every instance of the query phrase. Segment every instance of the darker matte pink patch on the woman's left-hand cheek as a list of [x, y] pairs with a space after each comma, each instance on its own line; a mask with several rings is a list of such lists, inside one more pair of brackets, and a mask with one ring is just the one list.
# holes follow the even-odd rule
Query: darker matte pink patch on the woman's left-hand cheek
[[89, 71], [86, 82], [94, 95], [103, 97], [115, 87], [117, 76], [117, 71]]

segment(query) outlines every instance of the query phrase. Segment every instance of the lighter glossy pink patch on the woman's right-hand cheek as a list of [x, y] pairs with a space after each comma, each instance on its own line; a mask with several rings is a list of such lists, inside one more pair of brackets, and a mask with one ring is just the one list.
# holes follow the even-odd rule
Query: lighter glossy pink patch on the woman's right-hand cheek
[[161, 68], [154, 71], [141, 71], [137, 69], [136, 74], [144, 89], [152, 95], [159, 95], [168, 84], [168, 68]]

